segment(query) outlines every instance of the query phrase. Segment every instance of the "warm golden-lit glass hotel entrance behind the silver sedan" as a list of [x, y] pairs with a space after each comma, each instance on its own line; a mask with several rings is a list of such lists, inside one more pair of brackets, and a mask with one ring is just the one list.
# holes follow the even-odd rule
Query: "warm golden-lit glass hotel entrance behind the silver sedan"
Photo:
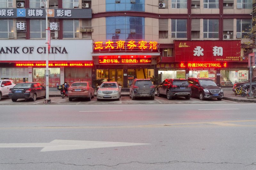
[[118, 85], [124, 86], [123, 69], [97, 69], [96, 79], [104, 78], [104, 81], [116, 81]]

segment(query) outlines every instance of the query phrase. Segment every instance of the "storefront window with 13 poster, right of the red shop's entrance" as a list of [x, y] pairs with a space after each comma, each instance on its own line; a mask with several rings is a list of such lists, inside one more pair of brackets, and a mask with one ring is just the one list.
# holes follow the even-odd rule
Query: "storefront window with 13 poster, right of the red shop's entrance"
[[248, 80], [248, 70], [220, 70], [220, 85], [233, 86], [236, 82]]

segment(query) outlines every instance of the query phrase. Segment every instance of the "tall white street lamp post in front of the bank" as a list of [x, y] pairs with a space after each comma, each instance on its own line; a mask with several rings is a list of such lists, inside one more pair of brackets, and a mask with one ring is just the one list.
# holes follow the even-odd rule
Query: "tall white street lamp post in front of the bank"
[[[44, 3], [44, 9], [45, 9], [45, 38], [46, 38], [46, 70], [45, 70], [45, 79], [46, 79], [46, 99], [44, 100], [44, 103], [51, 103], [51, 100], [49, 99], [49, 41], [48, 41], [48, 34], [49, 34], [49, 29], [48, 29], [48, 17], [47, 17], [47, 0], [42, 0]], [[50, 37], [51, 38], [51, 37]]]

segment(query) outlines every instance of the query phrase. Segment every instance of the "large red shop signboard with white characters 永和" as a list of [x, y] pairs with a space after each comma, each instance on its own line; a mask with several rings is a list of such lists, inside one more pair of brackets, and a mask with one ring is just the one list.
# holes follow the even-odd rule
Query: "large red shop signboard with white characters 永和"
[[241, 41], [174, 41], [175, 62], [246, 62]]

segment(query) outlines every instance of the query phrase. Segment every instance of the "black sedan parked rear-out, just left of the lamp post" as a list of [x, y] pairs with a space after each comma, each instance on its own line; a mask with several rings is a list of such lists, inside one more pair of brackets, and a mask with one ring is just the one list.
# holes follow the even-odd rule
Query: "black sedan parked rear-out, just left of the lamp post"
[[36, 98], [39, 97], [46, 98], [46, 89], [40, 83], [18, 83], [9, 90], [9, 98], [12, 101], [17, 101], [18, 99], [32, 99], [36, 101]]

